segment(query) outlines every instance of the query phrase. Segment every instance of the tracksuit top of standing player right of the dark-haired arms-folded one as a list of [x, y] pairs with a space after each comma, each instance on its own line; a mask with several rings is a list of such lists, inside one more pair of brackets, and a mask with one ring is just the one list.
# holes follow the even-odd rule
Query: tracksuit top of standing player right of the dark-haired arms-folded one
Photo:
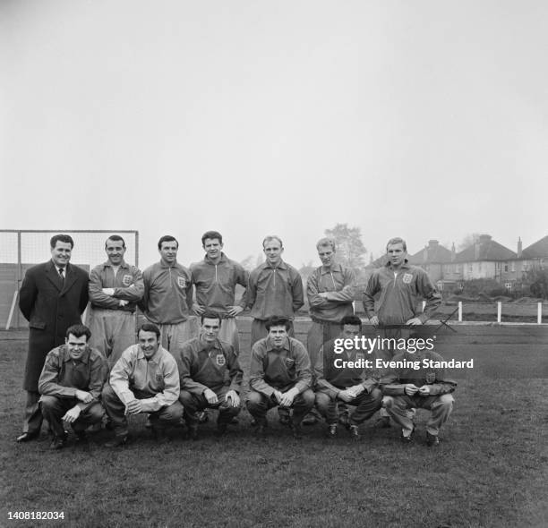
[[162, 260], [142, 273], [144, 295], [139, 307], [157, 325], [176, 325], [192, 315], [193, 283], [190, 271], [176, 262]]

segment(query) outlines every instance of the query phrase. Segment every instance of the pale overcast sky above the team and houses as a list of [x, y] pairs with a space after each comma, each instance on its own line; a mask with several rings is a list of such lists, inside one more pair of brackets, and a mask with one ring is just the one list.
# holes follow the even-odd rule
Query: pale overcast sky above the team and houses
[[[0, 1], [2, 228], [548, 234], [548, 3]], [[48, 258], [44, 248], [44, 260]], [[369, 260], [369, 254], [367, 255]]]

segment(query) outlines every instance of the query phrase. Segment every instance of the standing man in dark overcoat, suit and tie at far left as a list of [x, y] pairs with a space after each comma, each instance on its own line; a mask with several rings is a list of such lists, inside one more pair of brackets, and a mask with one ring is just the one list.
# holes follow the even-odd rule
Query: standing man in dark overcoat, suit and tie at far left
[[40, 434], [38, 381], [47, 353], [64, 344], [66, 329], [81, 324], [88, 304], [88, 274], [69, 265], [74, 242], [68, 234], [56, 234], [50, 241], [51, 260], [27, 270], [19, 292], [19, 308], [29, 321], [29, 353], [23, 388], [27, 391], [25, 417], [18, 442]]

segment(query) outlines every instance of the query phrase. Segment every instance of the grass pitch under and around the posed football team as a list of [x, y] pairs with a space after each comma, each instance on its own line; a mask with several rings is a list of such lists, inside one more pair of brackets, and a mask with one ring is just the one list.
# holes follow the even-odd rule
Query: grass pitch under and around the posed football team
[[[299, 322], [297, 337], [306, 326]], [[369, 423], [357, 444], [345, 434], [325, 439], [321, 425], [296, 441], [275, 412], [264, 440], [253, 438], [243, 412], [221, 441], [207, 423], [197, 442], [172, 430], [158, 447], [139, 416], [131, 424], [138, 439], [120, 450], [101, 446], [107, 431], [89, 449], [50, 452], [45, 430], [18, 445], [26, 341], [3, 333], [0, 526], [546, 526], [548, 331], [457, 329], [437, 336], [440, 352], [471, 354], [477, 369], [459, 379], [454, 413], [433, 449], [424, 446], [422, 411], [412, 446], [398, 442], [395, 428]], [[246, 370], [248, 322], [242, 332]], [[9, 520], [9, 511], [62, 511], [64, 520]]]

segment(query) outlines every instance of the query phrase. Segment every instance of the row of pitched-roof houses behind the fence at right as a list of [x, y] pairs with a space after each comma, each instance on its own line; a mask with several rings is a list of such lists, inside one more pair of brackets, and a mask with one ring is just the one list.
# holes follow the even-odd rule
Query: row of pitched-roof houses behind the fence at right
[[[442, 246], [437, 240], [415, 254], [407, 257], [410, 264], [420, 266], [443, 290], [463, 280], [492, 278], [511, 290], [532, 268], [548, 268], [548, 235], [523, 249], [518, 239], [517, 251], [509, 250], [492, 239], [490, 234], [481, 234], [472, 245], [463, 251]], [[374, 260], [368, 268], [378, 268], [386, 263], [386, 256]]]

